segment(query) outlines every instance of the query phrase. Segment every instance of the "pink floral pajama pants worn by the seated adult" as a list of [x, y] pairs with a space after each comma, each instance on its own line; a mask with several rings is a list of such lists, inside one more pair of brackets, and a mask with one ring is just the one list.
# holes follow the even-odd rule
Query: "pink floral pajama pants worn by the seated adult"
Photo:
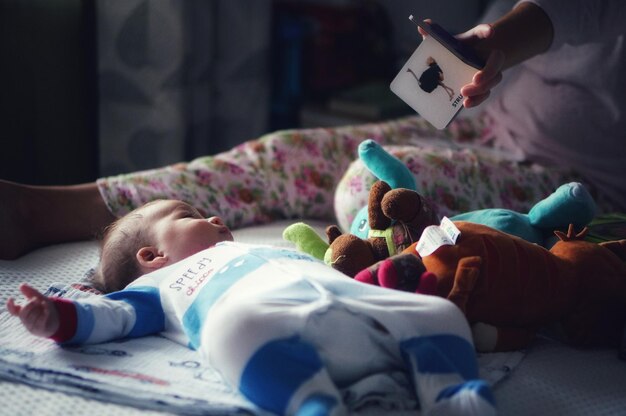
[[454, 215], [482, 208], [528, 209], [570, 172], [519, 162], [481, 146], [486, 117], [457, 119], [435, 130], [418, 116], [338, 128], [282, 130], [227, 152], [97, 181], [108, 208], [121, 216], [160, 198], [180, 199], [218, 215], [232, 228], [276, 219], [323, 219], [348, 230], [376, 180], [359, 161], [373, 139], [415, 175], [418, 191]]

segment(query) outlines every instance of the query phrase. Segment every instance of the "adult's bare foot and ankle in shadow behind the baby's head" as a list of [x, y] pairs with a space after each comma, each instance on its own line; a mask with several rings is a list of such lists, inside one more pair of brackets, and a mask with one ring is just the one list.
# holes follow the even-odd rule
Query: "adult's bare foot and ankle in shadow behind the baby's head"
[[95, 183], [31, 186], [0, 180], [0, 259], [93, 238], [115, 217]]

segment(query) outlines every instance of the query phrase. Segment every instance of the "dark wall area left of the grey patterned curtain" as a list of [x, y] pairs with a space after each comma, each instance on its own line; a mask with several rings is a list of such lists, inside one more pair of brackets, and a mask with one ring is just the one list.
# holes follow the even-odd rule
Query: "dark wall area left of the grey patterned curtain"
[[79, 0], [0, 0], [0, 178], [96, 177], [90, 16]]

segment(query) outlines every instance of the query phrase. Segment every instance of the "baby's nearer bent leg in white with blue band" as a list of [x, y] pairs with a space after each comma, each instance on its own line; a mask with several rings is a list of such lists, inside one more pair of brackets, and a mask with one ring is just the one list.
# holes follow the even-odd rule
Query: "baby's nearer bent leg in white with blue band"
[[318, 351], [294, 333], [299, 318], [284, 302], [231, 298], [211, 316], [201, 351], [250, 401], [279, 415], [346, 413]]

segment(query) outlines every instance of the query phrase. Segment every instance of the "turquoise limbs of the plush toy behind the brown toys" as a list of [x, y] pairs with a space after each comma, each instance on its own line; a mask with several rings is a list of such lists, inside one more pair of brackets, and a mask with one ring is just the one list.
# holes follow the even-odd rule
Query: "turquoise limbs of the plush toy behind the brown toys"
[[[378, 143], [365, 140], [359, 145], [358, 151], [365, 167], [378, 179], [387, 182], [392, 189], [407, 188], [417, 191], [411, 171]], [[550, 248], [556, 242], [554, 230], [566, 230], [570, 223], [581, 228], [591, 222], [596, 211], [595, 201], [585, 187], [578, 182], [571, 182], [561, 185], [527, 214], [503, 208], [489, 208], [466, 212], [450, 219], [483, 224]], [[365, 206], [352, 221], [350, 233], [364, 239], [368, 237], [369, 230]]]

